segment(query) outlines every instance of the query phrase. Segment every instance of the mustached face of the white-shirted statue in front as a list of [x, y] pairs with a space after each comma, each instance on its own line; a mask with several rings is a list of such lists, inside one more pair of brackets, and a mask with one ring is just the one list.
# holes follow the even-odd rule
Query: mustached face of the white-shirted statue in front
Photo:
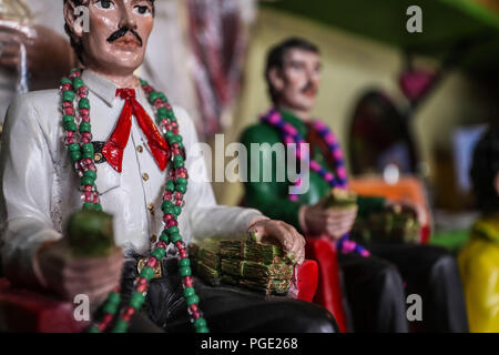
[[153, 28], [149, 0], [90, 0], [90, 31], [82, 32], [88, 67], [110, 74], [128, 74], [143, 60]]

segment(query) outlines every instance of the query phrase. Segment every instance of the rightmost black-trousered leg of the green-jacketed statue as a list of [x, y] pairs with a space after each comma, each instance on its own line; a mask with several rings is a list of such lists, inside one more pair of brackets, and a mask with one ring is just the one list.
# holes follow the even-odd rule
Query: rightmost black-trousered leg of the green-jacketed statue
[[465, 296], [456, 258], [434, 245], [370, 245], [370, 251], [400, 271], [407, 294], [422, 301], [422, 321], [411, 322], [415, 331], [468, 332]]

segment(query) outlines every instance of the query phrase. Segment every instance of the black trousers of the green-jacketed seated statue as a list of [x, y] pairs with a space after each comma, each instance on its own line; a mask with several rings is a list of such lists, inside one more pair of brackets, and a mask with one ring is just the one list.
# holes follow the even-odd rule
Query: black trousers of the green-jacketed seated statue
[[[459, 268], [448, 251], [414, 244], [366, 247], [369, 257], [338, 254], [355, 332], [468, 332]], [[408, 322], [410, 294], [421, 297], [422, 321]]]

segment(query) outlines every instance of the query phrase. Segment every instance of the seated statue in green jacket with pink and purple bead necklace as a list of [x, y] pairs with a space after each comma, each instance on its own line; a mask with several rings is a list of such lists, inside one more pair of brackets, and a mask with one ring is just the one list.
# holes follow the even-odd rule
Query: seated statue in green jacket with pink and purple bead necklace
[[[265, 77], [273, 108], [241, 136], [247, 148], [247, 175], [259, 169], [257, 181], [244, 184], [246, 205], [294, 225], [304, 235], [326, 235], [337, 243], [344, 291], [352, 311], [353, 329], [407, 332], [406, 294], [422, 300], [422, 321], [411, 328], [434, 332], [466, 332], [465, 302], [455, 258], [445, 250], [414, 244], [358, 245], [347, 237], [357, 215], [383, 211], [389, 201], [358, 196], [358, 209], [327, 209], [333, 187], [348, 186], [342, 150], [327, 124], [313, 118], [320, 83], [320, 54], [313, 43], [288, 39], [268, 53]], [[334, 114], [334, 113], [332, 113]], [[251, 150], [252, 143], [269, 143]], [[275, 143], [309, 143], [309, 187], [289, 194], [291, 183], [266, 182], [263, 172], [273, 171], [275, 159], [264, 159]], [[301, 160], [301, 150], [296, 159]], [[319, 281], [320, 282], [320, 281]], [[406, 286], [405, 286], [406, 284]], [[333, 292], [333, 291], [332, 291]]]

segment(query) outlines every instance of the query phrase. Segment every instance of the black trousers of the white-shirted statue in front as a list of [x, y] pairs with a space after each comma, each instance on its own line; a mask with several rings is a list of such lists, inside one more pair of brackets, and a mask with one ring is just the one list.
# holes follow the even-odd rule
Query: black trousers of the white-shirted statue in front
[[[124, 265], [123, 300], [130, 298], [138, 275], [136, 262]], [[212, 287], [194, 280], [200, 307], [210, 331], [215, 333], [335, 333], [333, 315], [315, 304], [245, 291]], [[193, 332], [177, 272], [176, 258], [163, 261], [163, 277], [153, 278], [143, 311], [132, 318], [131, 332]]]

